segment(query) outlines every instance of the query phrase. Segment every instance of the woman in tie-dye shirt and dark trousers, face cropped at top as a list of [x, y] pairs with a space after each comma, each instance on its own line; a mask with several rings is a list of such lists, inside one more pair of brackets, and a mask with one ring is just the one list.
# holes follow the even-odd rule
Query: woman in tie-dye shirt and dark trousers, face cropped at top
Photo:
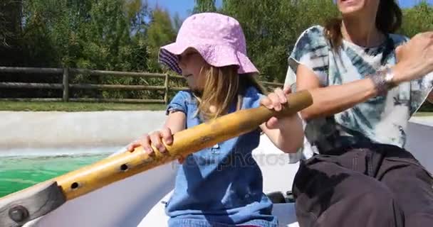
[[301, 116], [319, 153], [293, 184], [298, 221], [432, 226], [433, 178], [403, 148], [407, 121], [432, 90], [433, 33], [392, 34], [402, 18], [393, 0], [337, 5], [341, 18], [308, 28], [289, 58], [287, 80], [313, 96]]

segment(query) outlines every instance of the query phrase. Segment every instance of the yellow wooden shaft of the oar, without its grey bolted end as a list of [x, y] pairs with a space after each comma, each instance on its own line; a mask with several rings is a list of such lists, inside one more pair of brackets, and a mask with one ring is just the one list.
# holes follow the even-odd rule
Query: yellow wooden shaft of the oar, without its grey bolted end
[[[155, 150], [155, 154], [147, 155], [143, 148], [140, 147], [136, 148], [132, 153], [125, 152], [105, 158], [99, 162], [95, 162], [93, 165], [68, 172], [48, 182], [56, 182], [58, 189], [61, 189], [61, 193], [66, 200], [74, 199], [105, 185], [117, 182], [120, 179], [150, 170], [153, 167], [177, 160], [179, 157], [187, 156], [204, 148], [211, 147], [216, 143], [253, 131], [272, 116], [296, 114], [296, 112], [305, 109], [312, 103], [311, 94], [307, 91], [289, 94], [288, 105], [283, 106], [282, 111], [273, 111], [264, 106], [254, 109], [244, 109], [175, 133], [172, 145], [167, 145], [167, 154], [161, 154]], [[44, 184], [47, 183], [45, 182]], [[41, 185], [39, 184], [1, 198], [0, 211], [8, 211], [8, 209], [11, 209], [9, 206], [14, 206], [14, 201], [20, 201], [23, 196], [28, 198], [31, 194], [36, 195], [37, 193], [33, 190], [36, 188], [41, 188]], [[1, 202], [5, 202], [6, 200], [7, 207], [1, 206]], [[41, 201], [32, 206], [40, 207]], [[32, 210], [34, 207], [26, 207], [26, 209]]]

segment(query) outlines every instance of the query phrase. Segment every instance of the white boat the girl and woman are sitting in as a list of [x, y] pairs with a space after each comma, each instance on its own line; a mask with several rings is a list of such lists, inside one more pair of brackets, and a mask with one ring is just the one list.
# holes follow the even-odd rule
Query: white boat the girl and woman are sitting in
[[[410, 150], [427, 170], [433, 172], [433, 126], [409, 123], [408, 127], [407, 150]], [[282, 155], [281, 151], [270, 145], [267, 138], [261, 139], [261, 145], [254, 151], [254, 157], [261, 165], [264, 175], [264, 192], [290, 190], [298, 164], [287, 164], [287, 156], [276, 156], [287, 158], [283, 165], [266, 165], [273, 163], [272, 160], [264, 163], [258, 160], [258, 157], [264, 157], [264, 153]], [[167, 198], [172, 191], [175, 173], [175, 165], [157, 167], [68, 201], [56, 211], [26, 226], [164, 226], [166, 217], [163, 214], [164, 205], [160, 201]], [[147, 214], [150, 215], [146, 217]], [[297, 226], [293, 204], [276, 204], [274, 214], [278, 216], [281, 226]]]

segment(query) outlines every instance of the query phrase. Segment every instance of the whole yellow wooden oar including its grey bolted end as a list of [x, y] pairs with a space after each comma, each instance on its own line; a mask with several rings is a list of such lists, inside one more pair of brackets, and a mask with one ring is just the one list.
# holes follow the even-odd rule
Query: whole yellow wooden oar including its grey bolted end
[[288, 105], [283, 106], [282, 111], [269, 110], [264, 106], [245, 109], [175, 133], [172, 145], [167, 145], [167, 153], [161, 154], [155, 150], [154, 155], [147, 155], [142, 147], [136, 148], [132, 153], [125, 152], [108, 157], [93, 165], [5, 196], [0, 199], [0, 227], [21, 226], [53, 211], [68, 200], [249, 133], [272, 116], [296, 114], [312, 103], [309, 92], [289, 94]]

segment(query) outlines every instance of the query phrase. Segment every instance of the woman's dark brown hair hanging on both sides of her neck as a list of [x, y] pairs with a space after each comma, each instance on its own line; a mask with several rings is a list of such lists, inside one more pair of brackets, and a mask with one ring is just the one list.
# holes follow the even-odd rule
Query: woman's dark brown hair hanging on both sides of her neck
[[[341, 34], [341, 18], [331, 18], [325, 24], [325, 35], [330, 40], [334, 50], [337, 50], [343, 40]], [[382, 33], [394, 33], [402, 26], [402, 10], [395, 0], [380, 0], [376, 15], [376, 28]]]

